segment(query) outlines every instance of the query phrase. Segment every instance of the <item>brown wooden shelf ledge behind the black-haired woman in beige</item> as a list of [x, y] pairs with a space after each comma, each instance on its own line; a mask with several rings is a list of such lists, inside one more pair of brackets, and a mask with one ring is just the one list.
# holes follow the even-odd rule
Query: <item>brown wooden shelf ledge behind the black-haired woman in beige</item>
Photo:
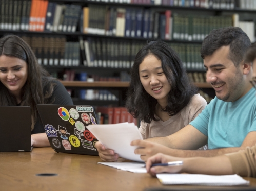
[[[129, 82], [83, 82], [83, 81], [61, 81], [65, 87], [129, 87]], [[212, 88], [208, 83], [195, 83], [199, 88]]]

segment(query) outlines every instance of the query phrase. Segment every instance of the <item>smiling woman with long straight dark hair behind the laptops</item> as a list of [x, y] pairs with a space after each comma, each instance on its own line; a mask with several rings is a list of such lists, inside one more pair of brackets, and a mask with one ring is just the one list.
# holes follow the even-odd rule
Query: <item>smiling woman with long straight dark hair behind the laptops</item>
[[31, 47], [18, 36], [0, 38], [0, 105], [30, 106], [31, 145], [50, 146], [37, 104], [73, 105], [65, 87], [37, 63]]

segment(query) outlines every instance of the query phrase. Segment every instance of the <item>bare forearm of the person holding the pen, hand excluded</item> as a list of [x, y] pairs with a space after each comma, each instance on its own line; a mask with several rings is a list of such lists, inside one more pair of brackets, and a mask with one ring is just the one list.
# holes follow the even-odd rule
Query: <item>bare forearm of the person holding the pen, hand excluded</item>
[[209, 175], [233, 174], [232, 166], [227, 156], [211, 158], [194, 157], [184, 159], [182, 172]]

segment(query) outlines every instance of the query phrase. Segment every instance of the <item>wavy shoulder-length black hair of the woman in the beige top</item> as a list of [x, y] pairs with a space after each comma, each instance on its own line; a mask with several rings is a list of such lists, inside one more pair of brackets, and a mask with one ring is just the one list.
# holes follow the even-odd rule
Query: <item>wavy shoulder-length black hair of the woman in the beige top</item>
[[126, 101], [128, 112], [146, 123], [152, 120], [159, 121], [154, 117], [157, 100], [146, 92], [139, 76], [139, 65], [148, 55], [154, 55], [161, 61], [164, 74], [171, 86], [164, 112], [170, 116], [179, 113], [197, 91], [178, 54], [162, 40], [149, 41], [135, 57]]

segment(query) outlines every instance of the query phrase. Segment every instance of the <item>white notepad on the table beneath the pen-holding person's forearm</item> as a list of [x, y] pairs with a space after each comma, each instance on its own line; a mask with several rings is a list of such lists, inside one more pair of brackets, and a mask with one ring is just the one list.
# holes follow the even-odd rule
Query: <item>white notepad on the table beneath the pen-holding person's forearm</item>
[[162, 184], [193, 184], [204, 186], [249, 185], [250, 181], [238, 175], [201, 175], [201, 174], [157, 174]]

